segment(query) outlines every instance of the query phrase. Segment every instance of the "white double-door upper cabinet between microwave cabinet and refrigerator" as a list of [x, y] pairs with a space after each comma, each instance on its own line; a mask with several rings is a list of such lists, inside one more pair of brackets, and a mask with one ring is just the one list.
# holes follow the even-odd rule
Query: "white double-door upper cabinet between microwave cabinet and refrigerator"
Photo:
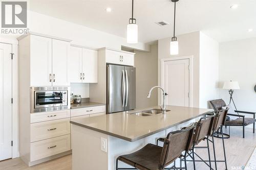
[[69, 56], [70, 83], [98, 82], [98, 51], [71, 46]]

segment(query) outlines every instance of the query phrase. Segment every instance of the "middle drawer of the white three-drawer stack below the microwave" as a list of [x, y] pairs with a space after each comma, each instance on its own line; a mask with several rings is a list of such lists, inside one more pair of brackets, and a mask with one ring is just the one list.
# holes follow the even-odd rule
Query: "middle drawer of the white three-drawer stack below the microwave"
[[70, 118], [30, 124], [30, 142], [70, 134]]

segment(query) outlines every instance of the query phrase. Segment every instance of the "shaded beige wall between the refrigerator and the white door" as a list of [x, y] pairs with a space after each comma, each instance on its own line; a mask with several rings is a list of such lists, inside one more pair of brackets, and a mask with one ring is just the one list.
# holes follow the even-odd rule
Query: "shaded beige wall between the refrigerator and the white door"
[[134, 51], [136, 67], [136, 108], [157, 106], [157, 90], [152, 91], [147, 99], [148, 91], [158, 84], [158, 46], [151, 45], [151, 52]]

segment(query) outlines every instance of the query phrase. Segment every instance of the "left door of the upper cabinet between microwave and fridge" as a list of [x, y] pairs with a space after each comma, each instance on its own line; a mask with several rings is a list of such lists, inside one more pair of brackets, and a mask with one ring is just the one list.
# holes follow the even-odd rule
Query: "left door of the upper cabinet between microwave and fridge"
[[82, 82], [82, 48], [71, 46], [69, 55], [69, 82]]

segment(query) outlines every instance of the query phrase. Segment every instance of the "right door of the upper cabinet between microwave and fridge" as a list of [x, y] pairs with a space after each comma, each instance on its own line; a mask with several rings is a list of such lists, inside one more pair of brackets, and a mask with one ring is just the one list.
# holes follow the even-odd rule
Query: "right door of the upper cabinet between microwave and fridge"
[[83, 63], [83, 83], [98, 82], [98, 51], [83, 48], [82, 50]]

